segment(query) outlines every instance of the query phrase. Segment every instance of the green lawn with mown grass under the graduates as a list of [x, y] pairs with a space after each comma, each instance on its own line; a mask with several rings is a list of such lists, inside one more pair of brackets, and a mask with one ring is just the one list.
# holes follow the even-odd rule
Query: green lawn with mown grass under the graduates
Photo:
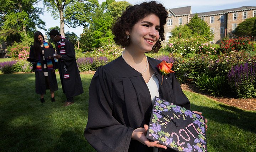
[[[93, 152], [83, 132], [87, 123], [91, 74], [81, 74], [84, 93], [63, 107], [59, 75], [56, 102], [41, 104], [35, 93], [34, 73], [0, 74], [0, 151]], [[203, 95], [186, 92], [192, 110], [208, 119], [209, 152], [254, 152], [256, 111], [224, 105]]]

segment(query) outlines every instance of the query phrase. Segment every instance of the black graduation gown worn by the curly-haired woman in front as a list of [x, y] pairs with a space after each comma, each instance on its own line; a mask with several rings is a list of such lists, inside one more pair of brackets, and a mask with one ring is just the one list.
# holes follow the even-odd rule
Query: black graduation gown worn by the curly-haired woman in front
[[[164, 77], [156, 68], [161, 61], [148, 57], [159, 81], [160, 98], [190, 109], [190, 101], [182, 92], [174, 74]], [[85, 138], [99, 152], [151, 152], [138, 141], [131, 140], [134, 129], [149, 124], [152, 101], [142, 75], [122, 57], [101, 66], [89, 88], [89, 114]]]

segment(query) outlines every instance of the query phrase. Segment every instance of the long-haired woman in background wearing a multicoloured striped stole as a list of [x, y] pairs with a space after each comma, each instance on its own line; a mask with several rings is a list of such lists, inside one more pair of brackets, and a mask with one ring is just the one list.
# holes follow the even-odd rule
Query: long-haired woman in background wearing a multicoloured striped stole
[[54, 59], [49, 59], [48, 55], [54, 54], [53, 46], [43, 41], [44, 36], [41, 32], [34, 33], [34, 45], [30, 47], [29, 61], [33, 64], [33, 71], [36, 75], [36, 93], [41, 95], [40, 101], [44, 103], [44, 94], [49, 89], [51, 101], [55, 102], [54, 91], [58, 90], [55, 75]]

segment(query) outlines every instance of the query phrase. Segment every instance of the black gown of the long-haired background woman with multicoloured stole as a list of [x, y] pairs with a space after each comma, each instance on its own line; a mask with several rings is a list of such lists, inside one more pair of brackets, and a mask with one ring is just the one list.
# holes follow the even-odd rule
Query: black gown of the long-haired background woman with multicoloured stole
[[[49, 45], [50, 48], [53, 48], [52, 45]], [[34, 47], [31, 46], [30, 47], [30, 58], [32, 59], [39, 59], [40, 62], [42, 63], [42, 71], [38, 71], [36, 70], [36, 65], [37, 63], [33, 62], [33, 71], [35, 71], [35, 75], [36, 75], [36, 93], [37, 94], [46, 94], [46, 90], [49, 89], [50, 91], [56, 91], [58, 90], [58, 83], [57, 83], [57, 79], [56, 79], [56, 75], [55, 75], [55, 71], [53, 71], [53, 69], [55, 69], [55, 63], [54, 60], [52, 59], [52, 63], [53, 63], [53, 69], [46, 69], [46, 71], [48, 72], [48, 76], [44, 76], [44, 69], [43, 69], [43, 64], [44, 62], [46, 62], [47, 65], [47, 61], [48, 59], [46, 59], [45, 61], [43, 61], [43, 54], [42, 54], [42, 50], [44, 49], [44, 47], [41, 47], [41, 52], [39, 54], [38, 57], [35, 57], [34, 54]], [[47, 79], [46, 79], [47, 78]]]

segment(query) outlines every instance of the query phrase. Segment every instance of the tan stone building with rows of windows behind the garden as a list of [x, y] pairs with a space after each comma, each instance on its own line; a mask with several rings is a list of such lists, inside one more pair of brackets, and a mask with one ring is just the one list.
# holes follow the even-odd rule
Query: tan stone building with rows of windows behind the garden
[[[165, 24], [165, 37], [171, 37], [175, 26], [187, 24], [196, 13], [191, 13], [191, 6], [171, 8]], [[242, 6], [219, 11], [197, 13], [198, 17], [210, 26], [214, 39], [210, 43], [219, 43], [228, 34], [232, 34], [237, 25], [247, 18], [256, 17], [256, 6]]]

